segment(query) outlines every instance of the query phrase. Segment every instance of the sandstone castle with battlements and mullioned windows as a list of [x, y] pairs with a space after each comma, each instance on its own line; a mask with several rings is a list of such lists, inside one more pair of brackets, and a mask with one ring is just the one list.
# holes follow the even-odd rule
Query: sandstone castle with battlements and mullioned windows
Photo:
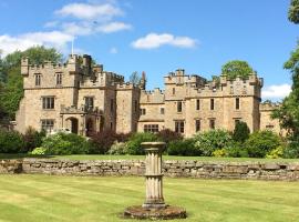
[[271, 129], [271, 104], [260, 103], [262, 79], [256, 73], [207, 81], [182, 69], [164, 77], [165, 90], [145, 91], [145, 74], [135, 85], [124, 77], [92, 64], [92, 58], [72, 54], [64, 64], [30, 64], [21, 61], [24, 97], [14, 129], [28, 127], [51, 132], [69, 129], [90, 135], [105, 129], [118, 133], [157, 132], [171, 129], [185, 137], [209, 129], [233, 131], [244, 121], [250, 131]]

